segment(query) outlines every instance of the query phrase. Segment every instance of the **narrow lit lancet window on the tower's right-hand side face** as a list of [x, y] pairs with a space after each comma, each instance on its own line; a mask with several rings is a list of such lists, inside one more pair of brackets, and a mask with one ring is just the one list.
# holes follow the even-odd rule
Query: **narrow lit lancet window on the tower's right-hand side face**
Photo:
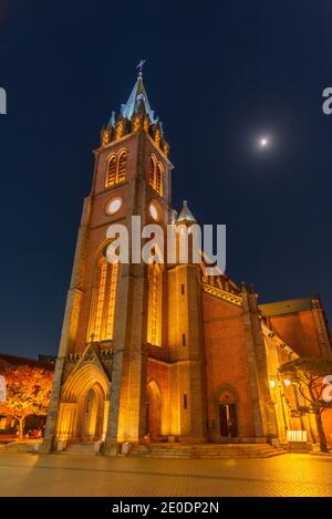
[[163, 272], [160, 266], [155, 263], [148, 264], [147, 269], [147, 342], [162, 346]]

